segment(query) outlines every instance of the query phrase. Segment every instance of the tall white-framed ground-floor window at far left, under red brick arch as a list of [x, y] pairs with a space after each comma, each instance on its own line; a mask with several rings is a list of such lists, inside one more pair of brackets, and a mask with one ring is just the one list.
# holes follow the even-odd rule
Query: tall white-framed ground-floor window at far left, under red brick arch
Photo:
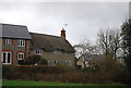
[[11, 64], [11, 52], [2, 52], [2, 63]]

